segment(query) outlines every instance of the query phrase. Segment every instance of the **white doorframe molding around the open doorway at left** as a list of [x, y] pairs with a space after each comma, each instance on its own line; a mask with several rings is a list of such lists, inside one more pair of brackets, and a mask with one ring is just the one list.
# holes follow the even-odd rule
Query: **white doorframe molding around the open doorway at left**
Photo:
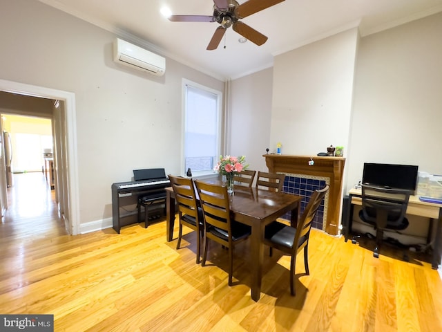
[[66, 178], [68, 182], [68, 207], [64, 214], [66, 228], [69, 234], [79, 234], [79, 184], [77, 163], [77, 120], [75, 116], [75, 93], [35, 86], [0, 79], [0, 91], [29, 95], [32, 97], [64, 100], [66, 110]]

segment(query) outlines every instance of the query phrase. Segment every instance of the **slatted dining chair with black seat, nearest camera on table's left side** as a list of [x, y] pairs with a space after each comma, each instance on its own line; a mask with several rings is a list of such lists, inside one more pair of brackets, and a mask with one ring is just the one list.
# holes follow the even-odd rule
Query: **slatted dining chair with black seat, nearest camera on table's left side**
[[232, 286], [233, 249], [236, 244], [249, 238], [251, 228], [232, 219], [227, 187], [198, 180], [195, 185], [204, 216], [205, 243], [201, 265], [206, 264], [209, 239], [220, 243], [229, 250], [229, 286]]

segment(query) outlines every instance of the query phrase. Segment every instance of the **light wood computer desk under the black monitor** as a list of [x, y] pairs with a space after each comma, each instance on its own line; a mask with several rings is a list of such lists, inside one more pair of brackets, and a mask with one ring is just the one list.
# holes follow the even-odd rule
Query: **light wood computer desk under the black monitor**
[[[362, 205], [362, 191], [360, 189], [350, 190], [347, 204], [347, 211], [349, 213], [343, 220], [343, 235], [345, 236], [345, 241], [347, 241], [349, 235], [352, 233], [354, 205]], [[419, 200], [419, 196], [410, 196], [407, 206], [407, 214], [436, 220], [437, 225], [436, 234], [434, 234], [432, 268], [437, 269], [438, 265], [441, 263], [441, 250], [439, 247], [442, 244], [442, 204], [422, 202]]]

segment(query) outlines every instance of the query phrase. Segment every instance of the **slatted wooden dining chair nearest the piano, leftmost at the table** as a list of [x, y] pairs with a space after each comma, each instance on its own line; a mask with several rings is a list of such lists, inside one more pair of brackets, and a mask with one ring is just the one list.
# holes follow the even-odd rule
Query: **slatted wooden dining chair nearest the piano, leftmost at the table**
[[204, 220], [202, 210], [198, 207], [195, 195], [195, 185], [191, 178], [182, 178], [169, 175], [169, 180], [175, 193], [178, 206], [180, 230], [178, 231], [177, 249], [180, 249], [182, 239], [182, 226], [185, 225], [196, 232], [196, 263], [200, 263], [201, 242], [204, 234]]

